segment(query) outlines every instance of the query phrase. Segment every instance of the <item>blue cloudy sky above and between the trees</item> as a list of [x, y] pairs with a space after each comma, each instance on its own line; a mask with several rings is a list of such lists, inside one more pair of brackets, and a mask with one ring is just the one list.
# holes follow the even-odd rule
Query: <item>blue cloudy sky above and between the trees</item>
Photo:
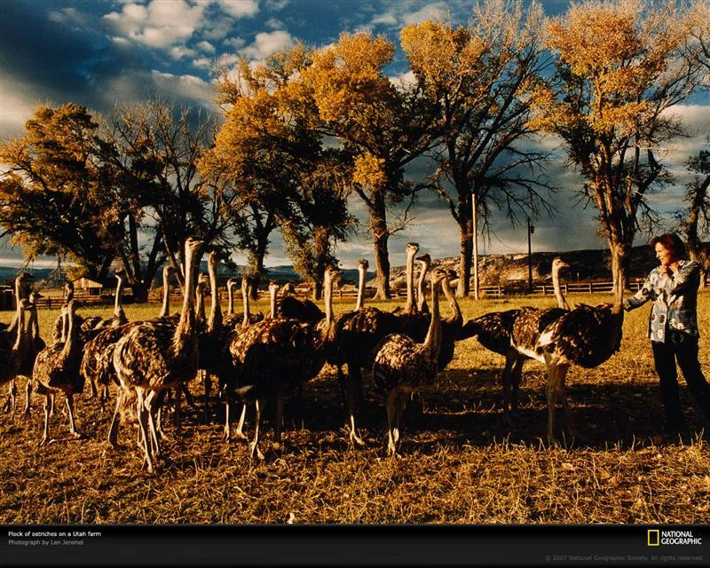
[[[343, 32], [371, 30], [398, 43], [398, 32], [410, 23], [438, 17], [466, 23], [473, 0], [2, 0], [0, 17], [0, 138], [21, 136], [23, 124], [38, 105], [72, 101], [110, 114], [116, 104], [130, 104], [160, 95], [177, 105], [201, 108], [220, 115], [214, 104], [210, 69], [215, 62], [231, 63], [238, 56], [262, 61], [303, 41], [319, 47], [337, 41]], [[567, 0], [543, 0], [549, 16], [564, 12]], [[398, 52], [388, 74], [406, 73]], [[666, 147], [665, 162], [675, 173], [675, 185], [650, 196], [651, 205], [665, 215], [682, 206], [685, 160], [706, 146], [710, 99], [700, 96], [676, 106], [690, 131]], [[564, 168], [554, 138], [535, 142], [556, 151], [548, 177], [557, 192], [550, 196], [554, 218], [533, 220], [533, 251], [605, 248], [599, 238], [594, 209], [576, 204], [580, 177]], [[414, 165], [407, 176], [421, 180], [423, 165]], [[351, 212], [367, 225], [367, 215], [357, 198]], [[493, 233], [479, 241], [482, 254], [527, 252], [523, 226], [511, 226], [493, 215]], [[408, 241], [420, 243], [434, 258], [457, 256], [458, 228], [446, 205], [433, 195], [423, 195], [406, 231], [390, 238], [390, 263], [404, 264]], [[646, 241], [640, 236], [639, 244]], [[337, 256], [344, 268], [361, 257], [373, 260], [372, 243], [364, 232], [342, 244]], [[233, 259], [244, 263], [238, 252]], [[279, 235], [274, 235], [267, 266], [290, 264]]]

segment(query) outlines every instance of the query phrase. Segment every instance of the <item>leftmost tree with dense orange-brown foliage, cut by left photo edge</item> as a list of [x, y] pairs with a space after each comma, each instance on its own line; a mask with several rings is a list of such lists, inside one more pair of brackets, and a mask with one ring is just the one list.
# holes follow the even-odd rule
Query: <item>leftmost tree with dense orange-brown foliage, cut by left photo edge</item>
[[41, 106], [27, 134], [0, 144], [0, 225], [29, 256], [67, 255], [104, 279], [122, 239], [122, 200], [100, 152], [100, 119], [84, 106]]

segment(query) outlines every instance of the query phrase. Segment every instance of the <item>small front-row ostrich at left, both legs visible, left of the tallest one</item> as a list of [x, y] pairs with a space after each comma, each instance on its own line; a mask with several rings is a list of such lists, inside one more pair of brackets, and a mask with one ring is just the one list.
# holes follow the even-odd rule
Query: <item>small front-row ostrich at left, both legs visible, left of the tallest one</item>
[[61, 390], [67, 400], [69, 431], [75, 438], [82, 438], [74, 422], [74, 395], [83, 390], [83, 377], [79, 375], [81, 343], [78, 337], [75, 302], [70, 300], [66, 309], [67, 339], [56, 342], [37, 353], [32, 381], [37, 393], [44, 395], [44, 431], [39, 445], [49, 441], [51, 398]]

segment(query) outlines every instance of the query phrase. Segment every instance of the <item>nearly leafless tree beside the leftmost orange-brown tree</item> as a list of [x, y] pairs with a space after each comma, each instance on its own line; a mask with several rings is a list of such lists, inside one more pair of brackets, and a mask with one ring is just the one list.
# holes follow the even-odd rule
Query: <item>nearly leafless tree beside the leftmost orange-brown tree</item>
[[[201, 176], [198, 171], [198, 162], [214, 145], [214, 124], [200, 113], [154, 99], [117, 109], [113, 126], [118, 148], [114, 165], [137, 203], [128, 217], [130, 255], [122, 254], [126, 269], [134, 280], [149, 286], [160, 266], [162, 244], [182, 283], [188, 236], [208, 244], [231, 244], [227, 212], [234, 200], [233, 187], [224, 177]], [[136, 235], [146, 228], [154, 237], [140, 278]]]

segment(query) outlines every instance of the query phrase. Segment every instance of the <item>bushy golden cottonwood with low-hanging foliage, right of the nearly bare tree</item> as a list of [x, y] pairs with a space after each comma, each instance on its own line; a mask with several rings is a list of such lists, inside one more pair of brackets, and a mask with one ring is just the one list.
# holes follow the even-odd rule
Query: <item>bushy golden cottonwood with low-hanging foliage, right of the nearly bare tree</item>
[[256, 277], [279, 228], [318, 297], [325, 266], [335, 260], [332, 247], [347, 237], [352, 218], [341, 183], [349, 156], [323, 150], [318, 115], [295, 80], [309, 64], [309, 52], [297, 45], [262, 65], [241, 59], [231, 74], [223, 70], [217, 84], [225, 124], [201, 166], [238, 188], [234, 229]]

